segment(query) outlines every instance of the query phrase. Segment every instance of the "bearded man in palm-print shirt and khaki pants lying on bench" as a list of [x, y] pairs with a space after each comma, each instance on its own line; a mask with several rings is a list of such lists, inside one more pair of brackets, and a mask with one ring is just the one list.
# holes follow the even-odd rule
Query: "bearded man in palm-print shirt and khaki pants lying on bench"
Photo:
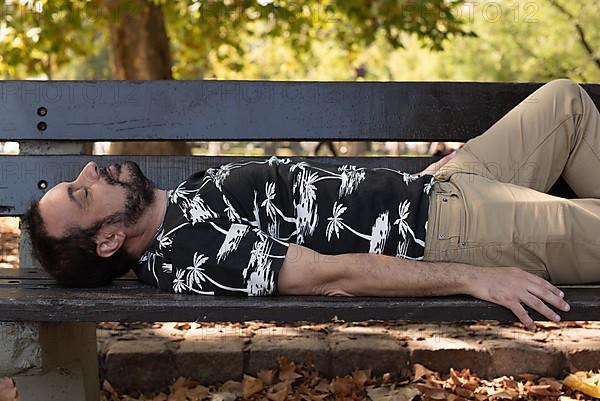
[[[577, 83], [533, 92], [418, 174], [270, 157], [200, 171], [169, 191], [133, 162], [88, 163], [25, 216], [66, 286], [133, 268], [203, 295], [469, 294], [551, 320], [553, 284], [600, 281], [600, 113]], [[546, 194], [561, 176], [579, 198]]]

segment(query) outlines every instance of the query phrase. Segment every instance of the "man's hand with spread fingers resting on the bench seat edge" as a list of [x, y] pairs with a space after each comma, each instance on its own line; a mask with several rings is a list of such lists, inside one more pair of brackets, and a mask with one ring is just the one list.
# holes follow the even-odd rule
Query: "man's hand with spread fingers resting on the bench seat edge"
[[560, 316], [546, 304], [567, 312], [570, 307], [563, 299], [564, 293], [535, 274], [517, 267], [479, 267], [473, 275], [470, 295], [510, 309], [528, 329], [535, 324], [522, 304], [550, 320]]

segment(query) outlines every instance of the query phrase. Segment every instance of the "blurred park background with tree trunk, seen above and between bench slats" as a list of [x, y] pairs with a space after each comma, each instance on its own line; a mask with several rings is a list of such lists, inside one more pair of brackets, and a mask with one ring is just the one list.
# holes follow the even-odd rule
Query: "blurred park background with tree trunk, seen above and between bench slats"
[[[4, 0], [3, 79], [600, 82], [598, 0]], [[90, 143], [95, 154], [444, 155], [460, 143]], [[17, 143], [0, 143], [17, 153]], [[0, 266], [18, 263], [0, 222]]]

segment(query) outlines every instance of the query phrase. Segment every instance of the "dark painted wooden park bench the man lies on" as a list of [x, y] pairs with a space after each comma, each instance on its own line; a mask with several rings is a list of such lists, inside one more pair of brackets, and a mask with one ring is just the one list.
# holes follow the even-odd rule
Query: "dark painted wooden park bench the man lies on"
[[[162, 188], [235, 157], [88, 156], [81, 141], [373, 140], [466, 141], [484, 132], [541, 83], [3, 81], [0, 214], [72, 180], [89, 160], [132, 159]], [[600, 85], [584, 87], [600, 105]], [[246, 157], [244, 157], [246, 158]], [[292, 158], [293, 160], [299, 158]], [[308, 158], [310, 159], [310, 158]], [[318, 157], [335, 163], [334, 158]], [[344, 158], [362, 166], [418, 171], [437, 158]], [[551, 193], [572, 197], [559, 181]], [[499, 306], [440, 298], [223, 298], [159, 292], [127, 275], [113, 286], [56, 286], [21, 241], [21, 268], [0, 270], [0, 375], [16, 375], [21, 400], [97, 400], [95, 322], [513, 321]], [[564, 287], [567, 320], [600, 319], [598, 287]], [[534, 313], [535, 318], [544, 320]]]

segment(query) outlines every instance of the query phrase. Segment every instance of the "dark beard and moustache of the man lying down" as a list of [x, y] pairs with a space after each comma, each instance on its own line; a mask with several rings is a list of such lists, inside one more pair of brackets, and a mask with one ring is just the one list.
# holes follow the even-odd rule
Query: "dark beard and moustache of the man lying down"
[[122, 171], [129, 172], [127, 181], [121, 181], [111, 177], [107, 167], [100, 167], [100, 175], [109, 185], [119, 185], [125, 189], [125, 208], [122, 212], [109, 216], [105, 223], [123, 223], [132, 226], [140, 219], [148, 206], [154, 202], [154, 190], [156, 186], [150, 181], [137, 163], [126, 161], [115, 164], [116, 176], [120, 177]]

